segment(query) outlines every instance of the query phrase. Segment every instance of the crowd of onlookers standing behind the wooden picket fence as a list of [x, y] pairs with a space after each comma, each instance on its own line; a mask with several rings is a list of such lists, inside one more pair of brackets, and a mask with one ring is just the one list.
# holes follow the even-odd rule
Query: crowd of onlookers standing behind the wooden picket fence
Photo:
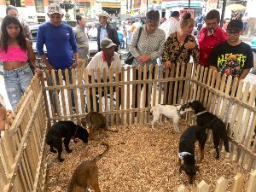
[[[15, 108], [32, 79], [28, 61], [31, 62], [32, 67], [35, 67], [34, 73], [42, 72], [38, 68], [32, 51], [30, 42], [32, 37], [28, 26], [17, 19], [18, 11], [14, 6], [7, 7], [6, 15], [1, 28], [0, 61], [3, 62], [4, 81], [9, 101], [12, 108]], [[109, 23], [108, 13], [102, 11], [98, 15], [100, 25], [97, 27], [92, 25], [89, 30], [86, 29], [87, 20], [83, 14], [76, 15], [77, 26], [73, 28], [62, 22], [63, 12], [60, 5], [56, 3], [49, 4], [47, 15], [49, 21], [38, 28], [38, 55], [49, 71], [67, 69], [70, 76], [69, 83], [72, 83], [73, 68], [95, 67], [102, 62], [108, 63], [108, 67], [113, 67], [113, 61], [107, 55], [116, 56], [116, 54], [111, 54], [110, 48], [112, 47], [114, 52], [118, 52], [119, 49], [130, 49], [134, 56], [132, 65], [146, 65], [147, 69], [156, 64], [172, 68], [176, 66], [177, 61], [188, 63], [190, 56], [193, 57], [195, 63], [201, 66], [212, 66], [212, 69], [238, 79], [244, 79], [249, 69], [253, 67], [252, 50], [239, 39], [242, 32], [247, 29], [247, 13], [240, 19], [233, 15], [234, 18], [231, 19], [236, 19], [236, 21], [225, 18], [223, 27], [220, 27], [220, 15], [215, 9], [209, 11], [207, 15], [200, 13], [195, 20], [189, 13], [180, 18], [180, 13], [173, 11], [171, 17], [166, 19], [160, 18], [159, 11], [149, 10], [146, 18], [136, 17], [125, 20], [116, 29]], [[195, 26], [199, 30], [196, 37], [193, 35]], [[101, 62], [96, 58], [89, 61], [89, 40], [97, 42], [99, 53], [95, 57], [103, 54]], [[102, 40], [105, 40], [108, 45], [102, 45]], [[44, 46], [47, 49], [47, 56]], [[216, 47], [218, 50], [222, 49], [223, 52], [220, 53]], [[18, 53], [18, 55], [10, 58], [9, 55], [13, 53]], [[219, 59], [220, 56], [222, 59]], [[236, 64], [233, 66], [228, 63], [231, 57], [236, 57]], [[119, 60], [115, 59], [115, 61]], [[66, 81], [66, 74], [62, 72], [63, 79]], [[22, 73], [24, 79], [17, 79], [19, 73]], [[55, 75], [56, 84], [60, 84], [57, 73]], [[136, 79], [138, 76], [137, 72]], [[71, 92], [75, 113], [73, 91]], [[54, 98], [54, 92], [52, 96]], [[145, 105], [148, 106], [148, 101]], [[137, 102], [134, 107], [137, 108]], [[54, 103], [54, 108], [57, 114], [59, 110], [57, 103]]]

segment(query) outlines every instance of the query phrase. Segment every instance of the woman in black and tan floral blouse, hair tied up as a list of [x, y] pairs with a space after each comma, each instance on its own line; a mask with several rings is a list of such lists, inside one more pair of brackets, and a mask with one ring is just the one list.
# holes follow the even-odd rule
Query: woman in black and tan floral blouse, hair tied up
[[[169, 38], [167, 38], [164, 53], [162, 55], [163, 64], [165, 65], [165, 67], [176, 67], [177, 62], [186, 65], [187, 63], [189, 63], [190, 55], [193, 56], [194, 62], [198, 63], [199, 49], [196, 44], [195, 37], [191, 35], [194, 29], [194, 24], [195, 20], [191, 18], [191, 15], [189, 13], [184, 14], [183, 20], [181, 21], [181, 29], [177, 32], [173, 32], [172, 34], [170, 34]], [[179, 85], [177, 86], [177, 88], [178, 87]], [[166, 96], [168, 96], [168, 93], [166, 94]], [[171, 102], [171, 104], [173, 103], [174, 101]]]

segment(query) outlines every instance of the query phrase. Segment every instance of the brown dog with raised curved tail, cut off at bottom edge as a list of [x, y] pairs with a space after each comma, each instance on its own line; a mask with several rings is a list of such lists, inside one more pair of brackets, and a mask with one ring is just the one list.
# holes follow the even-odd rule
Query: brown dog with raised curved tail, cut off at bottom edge
[[98, 182], [98, 166], [96, 165], [96, 162], [109, 150], [108, 143], [102, 143], [102, 145], [107, 147], [102, 154], [99, 154], [93, 160], [84, 161], [76, 167], [73, 176], [69, 180], [67, 192], [75, 192], [76, 187], [80, 187], [84, 189], [84, 191], [87, 191], [91, 187], [95, 192], [101, 192]]

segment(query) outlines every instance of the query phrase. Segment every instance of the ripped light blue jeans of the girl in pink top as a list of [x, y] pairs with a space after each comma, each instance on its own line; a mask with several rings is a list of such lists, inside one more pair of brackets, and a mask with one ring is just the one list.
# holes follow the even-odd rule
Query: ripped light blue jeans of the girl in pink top
[[13, 109], [16, 108], [21, 96], [24, 95], [32, 77], [32, 71], [28, 64], [11, 71], [3, 70], [5, 89]]

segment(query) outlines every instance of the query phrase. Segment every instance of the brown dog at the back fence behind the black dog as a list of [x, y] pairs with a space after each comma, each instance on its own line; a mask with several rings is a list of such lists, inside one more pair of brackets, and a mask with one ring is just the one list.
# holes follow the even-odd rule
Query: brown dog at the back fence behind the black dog
[[86, 126], [86, 124], [88, 124], [90, 139], [93, 138], [94, 131], [103, 130], [103, 131], [118, 132], [118, 131], [109, 130], [106, 122], [107, 122], [106, 117], [102, 113], [93, 112], [93, 111], [90, 111], [85, 116], [85, 118], [82, 118], [82, 121], [81, 121], [84, 127]]

